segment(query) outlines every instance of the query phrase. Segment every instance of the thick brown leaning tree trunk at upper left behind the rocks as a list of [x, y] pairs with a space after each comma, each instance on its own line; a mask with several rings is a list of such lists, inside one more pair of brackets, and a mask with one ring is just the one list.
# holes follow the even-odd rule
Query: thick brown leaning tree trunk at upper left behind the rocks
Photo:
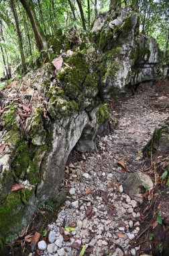
[[36, 46], [38, 48], [38, 51], [42, 51], [44, 49], [47, 49], [47, 42], [46, 37], [44, 36], [44, 32], [42, 31], [42, 28], [40, 27], [40, 24], [38, 22], [38, 19], [36, 17], [36, 13], [34, 10], [34, 5], [31, 0], [19, 0], [21, 4], [23, 5], [23, 8], [25, 9], [27, 16], [30, 18], [30, 22], [32, 25], [32, 30], [34, 31], [34, 38], [36, 40]]

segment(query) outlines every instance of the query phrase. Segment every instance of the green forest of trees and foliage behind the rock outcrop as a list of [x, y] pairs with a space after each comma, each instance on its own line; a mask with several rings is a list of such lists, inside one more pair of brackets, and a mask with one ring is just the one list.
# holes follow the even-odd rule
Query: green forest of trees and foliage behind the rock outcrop
[[131, 5], [139, 11], [140, 33], [156, 38], [167, 63], [168, 0], [0, 0], [0, 77], [9, 66], [21, 65], [25, 73], [27, 63], [48, 51], [48, 40], [59, 31], [66, 36], [73, 32], [78, 40], [88, 38], [99, 13], [111, 5]]

